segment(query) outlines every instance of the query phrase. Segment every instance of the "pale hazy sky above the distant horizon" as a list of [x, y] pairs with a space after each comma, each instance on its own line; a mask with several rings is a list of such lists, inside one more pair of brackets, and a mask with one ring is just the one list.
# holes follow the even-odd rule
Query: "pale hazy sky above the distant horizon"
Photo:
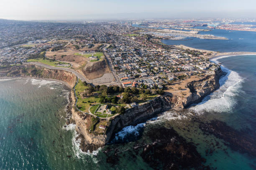
[[256, 0], [1, 0], [0, 18], [13, 20], [256, 19]]

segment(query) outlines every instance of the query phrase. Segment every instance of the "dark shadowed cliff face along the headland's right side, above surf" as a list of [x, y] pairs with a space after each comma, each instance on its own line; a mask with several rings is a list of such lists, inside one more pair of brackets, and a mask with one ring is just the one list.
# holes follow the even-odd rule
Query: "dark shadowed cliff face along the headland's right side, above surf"
[[126, 110], [123, 115], [118, 115], [112, 120], [106, 133], [108, 137], [106, 141], [111, 140], [115, 133], [125, 126], [145, 122], [156, 116], [156, 114], [169, 109], [182, 110], [192, 103], [200, 102], [203, 97], [209, 95], [220, 86], [219, 78], [221, 75], [223, 75], [223, 72], [218, 68], [214, 75], [207, 75], [198, 81], [190, 82], [187, 84], [190, 89], [190, 94], [187, 97], [164, 95], [143, 105]]

